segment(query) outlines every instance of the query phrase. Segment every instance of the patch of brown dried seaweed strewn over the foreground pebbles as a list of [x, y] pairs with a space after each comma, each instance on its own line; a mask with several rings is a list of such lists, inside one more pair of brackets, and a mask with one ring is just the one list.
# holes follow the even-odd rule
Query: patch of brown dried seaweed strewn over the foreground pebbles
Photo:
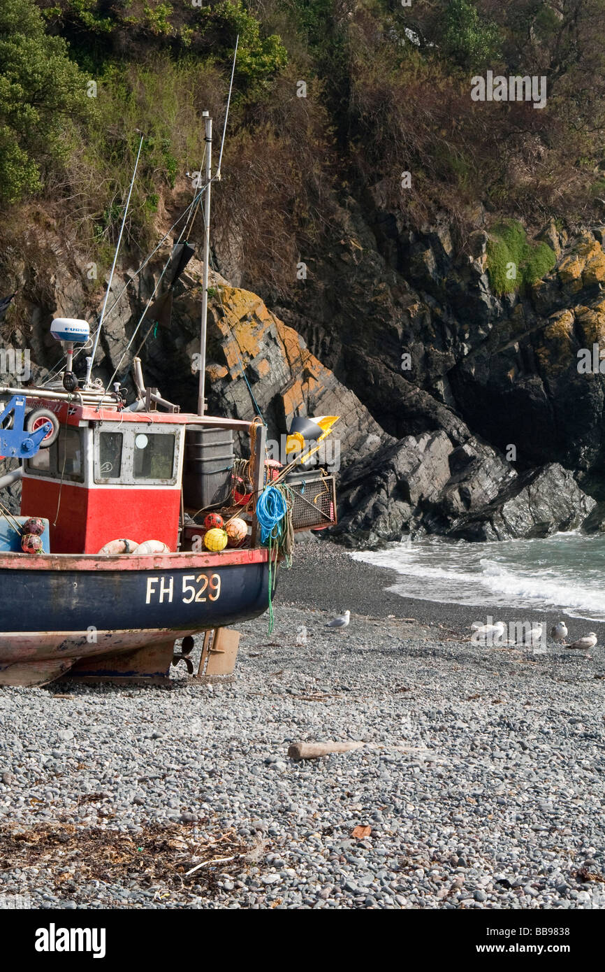
[[73, 899], [91, 882], [154, 887], [166, 904], [171, 892], [180, 903], [212, 897], [218, 875], [238, 877], [253, 857], [235, 830], [210, 834], [193, 824], [151, 823], [133, 834], [58, 822], [0, 827], [0, 872], [37, 868]]

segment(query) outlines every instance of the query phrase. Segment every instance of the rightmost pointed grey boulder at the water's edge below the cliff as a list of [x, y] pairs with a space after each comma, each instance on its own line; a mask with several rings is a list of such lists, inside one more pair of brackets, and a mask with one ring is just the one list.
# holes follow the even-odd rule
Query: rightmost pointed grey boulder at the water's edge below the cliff
[[449, 536], [470, 540], [550, 537], [575, 530], [595, 501], [556, 463], [523, 473], [479, 513], [460, 517]]

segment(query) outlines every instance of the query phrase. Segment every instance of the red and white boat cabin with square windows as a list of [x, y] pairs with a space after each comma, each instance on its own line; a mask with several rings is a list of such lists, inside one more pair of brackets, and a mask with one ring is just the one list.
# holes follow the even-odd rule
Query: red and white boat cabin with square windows
[[176, 550], [185, 426], [221, 420], [41, 403], [55, 412], [60, 432], [24, 462], [21, 510], [49, 519], [51, 551], [98, 553], [118, 538], [160, 540]]

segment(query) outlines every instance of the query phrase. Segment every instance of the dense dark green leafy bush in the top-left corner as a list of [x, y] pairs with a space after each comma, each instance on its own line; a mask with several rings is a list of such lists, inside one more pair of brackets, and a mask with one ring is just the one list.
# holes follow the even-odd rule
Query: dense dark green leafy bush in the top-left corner
[[0, 201], [42, 187], [69, 154], [66, 131], [86, 112], [85, 80], [60, 37], [50, 37], [33, 0], [0, 4]]

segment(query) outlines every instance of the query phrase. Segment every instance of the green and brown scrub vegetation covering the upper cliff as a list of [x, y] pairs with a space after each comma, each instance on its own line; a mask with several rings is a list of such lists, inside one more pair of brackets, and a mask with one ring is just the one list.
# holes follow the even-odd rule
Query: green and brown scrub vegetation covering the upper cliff
[[[190, 199], [202, 110], [221, 129], [239, 35], [215, 238], [264, 293], [285, 293], [334, 208], [375, 186], [408, 226], [446, 213], [458, 243], [482, 211], [532, 231], [601, 218], [605, 0], [199, 3], [2, 0], [0, 206], [53, 206], [111, 252], [140, 130], [127, 232], [145, 249]], [[487, 70], [547, 76], [546, 107], [472, 101]], [[503, 277], [522, 241], [502, 232], [490, 272], [505, 293], [552, 258], [525, 240], [521, 278]]]

